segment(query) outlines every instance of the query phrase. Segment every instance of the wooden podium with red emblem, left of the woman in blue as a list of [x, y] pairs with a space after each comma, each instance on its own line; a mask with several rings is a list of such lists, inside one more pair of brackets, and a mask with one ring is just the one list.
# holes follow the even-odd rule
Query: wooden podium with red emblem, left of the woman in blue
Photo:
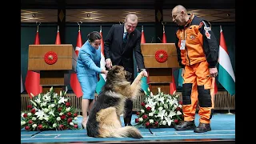
[[30, 45], [28, 70], [40, 71], [42, 92], [50, 87], [59, 94], [69, 84], [68, 74], [76, 72], [77, 55], [71, 44]]

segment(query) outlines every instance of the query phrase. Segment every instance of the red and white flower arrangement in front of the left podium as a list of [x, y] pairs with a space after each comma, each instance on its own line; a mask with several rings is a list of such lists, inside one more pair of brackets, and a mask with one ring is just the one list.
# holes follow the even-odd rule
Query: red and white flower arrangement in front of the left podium
[[35, 130], [74, 130], [78, 129], [78, 114], [70, 106], [66, 92], [54, 93], [53, 87], [46, 94], [31, 94], [29, 110], [22, 111], [21, 129]]

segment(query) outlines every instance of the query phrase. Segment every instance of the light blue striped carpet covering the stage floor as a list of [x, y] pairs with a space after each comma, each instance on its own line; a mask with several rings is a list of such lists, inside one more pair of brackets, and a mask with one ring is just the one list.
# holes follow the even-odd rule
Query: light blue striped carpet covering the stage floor
[[[135, 125], [132, 117], [132, 124]], [[198, 114], [195, 117], [196, 126], [198, 126]], [[123, 121], [123, 118], [121, 118]], [[81, 127], [82, 117], [78, 117]], [[122, 122], [123, 123], [123, 122]], [[182, 139], [204, 139], [204, 138], [235, 138], [235, 114], [214, 114], [211, 120], [211, 131], [206, 133], [194, 133], [193, 130], [177, 131], [174, 128], [150, 129], [139, 128], [142, 133], [142, 139], [135, 138], [90, 138], [86, 135], [86, 130], [49, 130], [36, 134], [37, 131], [21, 130], [21, 142], [117, 142], [117, 141], [156, 141], [156, 140], [182, 140]], [[34, 136], [33, 136], [34, 134]], [[31, 137], [32, 136], [32, 137]]]

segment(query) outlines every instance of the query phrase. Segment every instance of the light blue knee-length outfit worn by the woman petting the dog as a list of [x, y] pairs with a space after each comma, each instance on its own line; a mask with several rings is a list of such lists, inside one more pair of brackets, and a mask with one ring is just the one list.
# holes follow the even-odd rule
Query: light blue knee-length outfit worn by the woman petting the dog
[[101, 47], [95, 50], [86, 41], [79, 50], [77, 60], [78, 81], [82, 87], [82, 99], [94, 99], [96, 85], [98, 82], [97, 73], [101, 73], [100, 68]]

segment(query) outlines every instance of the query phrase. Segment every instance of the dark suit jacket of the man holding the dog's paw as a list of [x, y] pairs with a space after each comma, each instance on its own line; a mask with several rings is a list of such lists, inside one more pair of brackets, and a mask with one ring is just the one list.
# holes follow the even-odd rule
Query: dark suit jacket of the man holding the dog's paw
[[124, 25], [115, 24], [110, 28], [104, 41], [104, 56], [110, 58], [112, 65], [118, 65], [121, 61], [126, 70], [134, 74], [134, 56], [138, 65], [138, 70], [145, 69], [144, 58], [141, 50], [142, 33], [135, 29], [128, 35], [126, 46], [122, 47], [122, 37], [124, 33]]

